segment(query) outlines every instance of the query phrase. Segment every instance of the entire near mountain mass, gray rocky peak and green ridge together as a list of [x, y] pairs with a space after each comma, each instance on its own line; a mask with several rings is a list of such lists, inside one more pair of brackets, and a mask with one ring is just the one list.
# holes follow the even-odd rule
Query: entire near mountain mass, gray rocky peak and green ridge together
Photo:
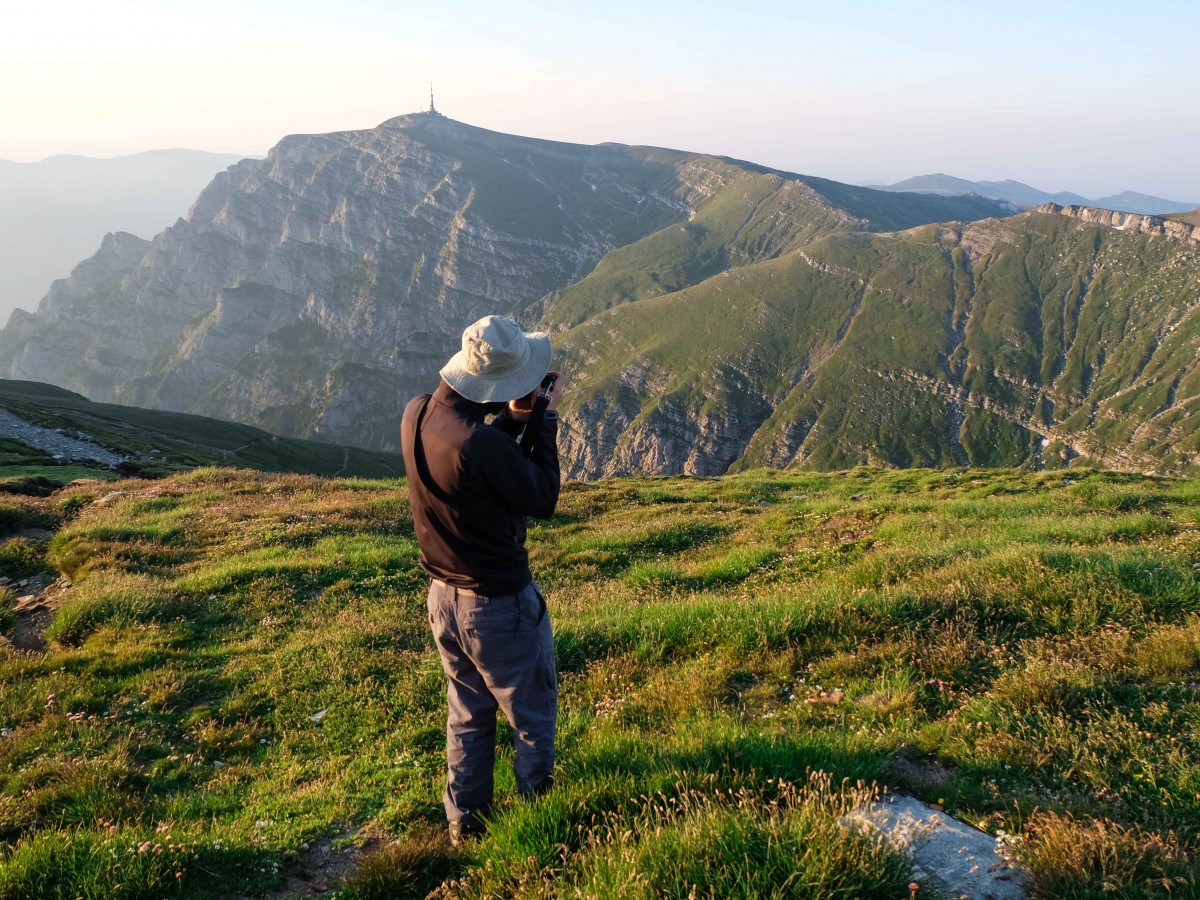
[[398, 116], [108, 235], [0, 331], [0, 377], [392, 449], [508, 312], [556, 335], [575, 478], [1196, 470], [1200, 228], [1013, 204]]

